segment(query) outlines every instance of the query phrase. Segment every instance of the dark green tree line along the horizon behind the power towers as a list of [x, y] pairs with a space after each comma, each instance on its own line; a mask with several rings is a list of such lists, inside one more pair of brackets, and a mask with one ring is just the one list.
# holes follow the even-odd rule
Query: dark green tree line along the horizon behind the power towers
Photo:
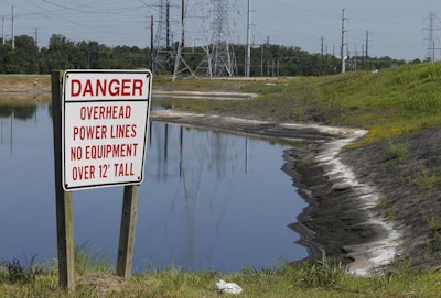
[[[178, 48], [178, 43], [172, 45]], [[236, 60], [236, 75], [245, 74], [245, 45], [233, 45]], [[196, 68], [204, 58], [202, 48], [185, 52], [190, 68]], [[173, 74], [174, 58], [161, 69], [162, 74]], [[73, 42], [54, 34], [47, 47], [39, 48], [32, 36], [14, 37], [0, 44], [0, 74], [50, 74], [61, 69], [133, 69], [151, 68], [152, 57], [149, 47], [109, 47], [94, 41]], [[412, 63], [420, 63], [413, 60]], [[354, 56], [346, 60], [346, 70], [375, 70], [406, 64], [390, 57]], [[251, 48], [251, 76], [325, 76], [341, 71], [341, 60], [333, 55], [311, 54], [300, 47], [265, 44]]]

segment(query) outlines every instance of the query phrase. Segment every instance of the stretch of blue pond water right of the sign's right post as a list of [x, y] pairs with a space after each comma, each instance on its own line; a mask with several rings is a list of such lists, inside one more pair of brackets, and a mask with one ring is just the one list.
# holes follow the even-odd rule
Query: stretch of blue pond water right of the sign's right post
[[151, 137], [141, 203], [158, 212], [139, 221], [147, 263], [237, 271], [306, 255], [287, 228], [304, 207], [280, 170], [287, 146], [164, 123]]

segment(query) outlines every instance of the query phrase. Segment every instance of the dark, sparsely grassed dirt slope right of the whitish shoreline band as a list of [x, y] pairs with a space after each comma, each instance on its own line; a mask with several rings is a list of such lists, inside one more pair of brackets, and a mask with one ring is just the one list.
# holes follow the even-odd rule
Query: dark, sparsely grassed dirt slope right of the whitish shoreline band
[[379, 141], [341, 154], [380, 195], [378, 212], [402, 232], [405, 265], [441, 265], [441, 130]]

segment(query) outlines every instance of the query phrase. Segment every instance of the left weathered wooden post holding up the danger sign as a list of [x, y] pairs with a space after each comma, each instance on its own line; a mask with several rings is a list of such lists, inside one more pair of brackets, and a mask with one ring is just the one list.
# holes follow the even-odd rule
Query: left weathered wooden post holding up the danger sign
[[72, 218], [72, 192], [63, 189], [62, 178], [62, 84], [63, 73], [53, 71], [52, 120], [55, 158], [56, 240], [58, 254], [58, 285], [63, 289], [75, 289], [74, 224]]

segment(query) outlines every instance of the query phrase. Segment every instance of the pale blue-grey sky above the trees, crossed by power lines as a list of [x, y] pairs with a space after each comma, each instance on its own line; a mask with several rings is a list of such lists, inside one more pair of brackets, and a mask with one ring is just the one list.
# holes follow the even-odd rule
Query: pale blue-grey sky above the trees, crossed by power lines
[[[62, 34], [73, 42], [96, 41], [110, 47], [128, 45], [143, 48], [150, 46], [151, 15], [154, 20], [154, 35], [157, 34], [160, 1], [0, 0], [2, 20], [0, 33], [7, 40], [11, 38], [13, 23], [13, 35], [36, 37], [40, 47], [47, 46], [53, 34]], [[185, 0], [187, 45], [196, 45], [203, 40], [211, 38], [209, 20], [214, 15], [212, 1]], [[224, 1], [229, 8], [229, 42], [246, 44], [248, 0]], [[439, 49], [441, 1], [439, 0], [249, 0], [249, 2], [250, 40], [255, 46], [269, 41], [270, 44], [298, 46], [310, 53], [321, 53], [323, 44], [324, 53], [338, 55], [344, 9], [344, 42], [351, 55], [354, 53], [362, 55], [367, 40], [368, 55], [372, 57], [423, 59], [427, 57], [428, 47], [434, 47], [435, 59], [441, 59]], [[171, 35], [173, 41], [178, 41], [182, 0], [170, 0], [170, 3]], [[433, 30], [430, 31], [430, 27]], [[429, 46], [430, 32], [433, 43]]]

